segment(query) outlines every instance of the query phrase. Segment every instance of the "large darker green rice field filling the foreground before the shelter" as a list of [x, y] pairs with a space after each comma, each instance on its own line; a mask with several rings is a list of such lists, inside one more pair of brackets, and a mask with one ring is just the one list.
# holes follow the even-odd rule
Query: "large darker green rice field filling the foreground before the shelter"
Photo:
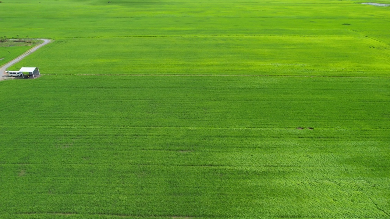
[[[376, 205], [388, 206], [387, 84], [218, 76], [4, 81], [1, 92], [34, 92], [12, 102], [0, 97], [7, 146], [0, 210], [16, 218], [386, 217]], [[6, 114], [15, 108], [25, 113]]]

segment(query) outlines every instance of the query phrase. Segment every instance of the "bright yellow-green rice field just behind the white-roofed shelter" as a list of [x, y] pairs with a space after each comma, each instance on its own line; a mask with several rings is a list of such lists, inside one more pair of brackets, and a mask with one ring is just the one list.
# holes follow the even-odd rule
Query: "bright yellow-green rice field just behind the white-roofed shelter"
[[58, 39], [37, 53], [14, 69], [34, 63], [46, 74], [390, 75], [388, 45], [362, 36]]

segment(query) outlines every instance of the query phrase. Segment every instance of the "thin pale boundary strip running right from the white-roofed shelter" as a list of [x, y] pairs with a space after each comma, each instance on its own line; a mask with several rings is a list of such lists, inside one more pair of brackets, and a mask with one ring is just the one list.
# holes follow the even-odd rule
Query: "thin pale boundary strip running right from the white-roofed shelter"
[[201, 76], [201, 77], [306, 77], [306, 78], [390, 78], [390, 76], [308, 76], [308, 75], [250, 75], [250, 74], [41, 74], [44, 76]]

